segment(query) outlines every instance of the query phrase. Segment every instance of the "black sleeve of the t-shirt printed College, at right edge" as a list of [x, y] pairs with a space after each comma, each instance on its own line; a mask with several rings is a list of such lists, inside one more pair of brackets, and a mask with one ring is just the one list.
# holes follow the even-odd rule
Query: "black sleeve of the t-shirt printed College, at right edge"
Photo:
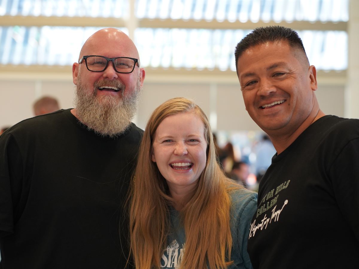
[[340, 211], [359, 241], [359, 138], [344, 146], [329, 175]]

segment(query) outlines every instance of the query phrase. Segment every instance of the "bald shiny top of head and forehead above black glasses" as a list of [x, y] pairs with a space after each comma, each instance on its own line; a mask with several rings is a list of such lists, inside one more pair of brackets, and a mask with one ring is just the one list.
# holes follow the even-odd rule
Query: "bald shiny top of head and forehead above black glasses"
[[[116, 28], [104, 28], [90, 36], [81, 48], [79, 60], [85, 55], [103, 55], [114, 49], [121, 50], [116, 57], [131, 57], [140, 60], [137, 48], [132, 40]], [[102, 54], [99, 54], [101, 52]], [[114, 56], [115, 57], [115, 56]]]

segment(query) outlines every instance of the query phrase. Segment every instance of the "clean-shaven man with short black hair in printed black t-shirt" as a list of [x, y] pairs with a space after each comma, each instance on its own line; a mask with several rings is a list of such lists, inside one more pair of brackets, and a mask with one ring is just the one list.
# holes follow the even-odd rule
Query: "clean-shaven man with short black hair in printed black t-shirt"
[[253, 267], [358, 267], [359, 120], [320, 110], [316, 69], [292, 29], [257, 28], [235, 56], [246, 110], [277, 151], [250, 227]]

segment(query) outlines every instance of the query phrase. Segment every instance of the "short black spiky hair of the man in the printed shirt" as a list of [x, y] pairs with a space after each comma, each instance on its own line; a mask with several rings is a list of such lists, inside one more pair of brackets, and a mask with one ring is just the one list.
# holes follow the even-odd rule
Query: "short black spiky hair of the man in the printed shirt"
[[292, 48], [299, 48], [308, 60], [306, 50], [304, 49], [302, 39], [298, 36], [298, 33], [290, 28], [283, 26], [267, 26], [258, 27], [251, 33], [247, 34], [236, 46], [234, 56], [236, 59], [236, 69], [238, 58], [242, 53], [250, 47], [254, 47], [266, 42], [279, 42], [287, 41]]

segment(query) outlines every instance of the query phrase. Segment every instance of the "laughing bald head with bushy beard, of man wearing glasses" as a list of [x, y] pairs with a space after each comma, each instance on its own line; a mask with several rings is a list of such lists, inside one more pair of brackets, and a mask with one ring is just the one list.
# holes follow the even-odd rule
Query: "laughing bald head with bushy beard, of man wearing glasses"
[[[139, 59], [131, 39], [115, 28], [101, 29], [85, 42], [80, 58], [89, 55]], [[91, 64], [103, 61], [101, 57], [94, 59], [87, 62], [90, 69], [93, 67]], [[136, 65], [133, 72], [123, 74], [116, 72], [113, 62], [109, 62], [103, 71], [92, 72], [83, 60], [81, 63], [75, 62], [72, 70], [76, 85], [76, 108], [71, 113], [101, 135], [117, 136], [123, 133], [137, 111], [137, 101], [145, 78], [144, 69]]]

